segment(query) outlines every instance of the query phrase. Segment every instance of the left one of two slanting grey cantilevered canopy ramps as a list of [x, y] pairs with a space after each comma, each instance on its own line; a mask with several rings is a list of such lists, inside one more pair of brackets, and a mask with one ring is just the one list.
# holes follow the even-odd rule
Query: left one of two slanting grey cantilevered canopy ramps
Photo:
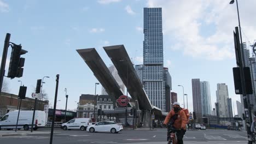
[[98, 55], [98, 52], [95, 50], [95, 48], [80, 49], [77, 50], [77, 52], [92, 70], [97, 80], [106, 89], [110, 97], [118, 99], [121, 95], [124, 95], [124, 92], [118, 85], [117, 81], [115, 81], [113, 75], [110, 73], [109, 69], [102, 61], [100, 55]]

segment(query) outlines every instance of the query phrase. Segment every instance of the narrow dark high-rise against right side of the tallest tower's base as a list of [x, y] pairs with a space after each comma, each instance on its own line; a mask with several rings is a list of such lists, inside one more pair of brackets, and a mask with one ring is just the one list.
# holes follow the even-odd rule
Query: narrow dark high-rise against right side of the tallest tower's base
[[166, 112], [171, 110], [171, 89], [172, 89], [172, 77], [168, 71], [168, 68], [164, 68], [164, 81], [165, 81], [165, 109]]

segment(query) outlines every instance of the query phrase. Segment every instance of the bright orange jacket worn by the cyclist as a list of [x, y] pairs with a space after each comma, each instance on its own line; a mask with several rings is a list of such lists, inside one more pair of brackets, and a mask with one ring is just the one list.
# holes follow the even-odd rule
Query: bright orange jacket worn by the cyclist
[[[168, 124], [170, 122], [170, 119], [172, 118], [172, 116], [174, 116], [175, 112], [174, 110], [172, 109], [168, 115], [166, 116], [165, 118], [165, 122], [164, 124]], [[185, 115], [185, 112], [180, 110], [178, 112], [178, 118], [175, 120], [174, 124], [173, 124], [173, 127], [176, 128], [176, 129], [186, 129], [186, 124], [187, 124], [187, 117]]]

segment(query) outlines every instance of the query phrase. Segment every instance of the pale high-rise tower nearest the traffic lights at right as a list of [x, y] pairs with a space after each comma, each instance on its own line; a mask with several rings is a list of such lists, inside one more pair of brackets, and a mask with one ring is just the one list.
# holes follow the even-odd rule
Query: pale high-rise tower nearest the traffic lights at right
[[219, 117], [228, 117], [228, 86], [225, 83], [217, 83], [216, 99], [219, 108]]

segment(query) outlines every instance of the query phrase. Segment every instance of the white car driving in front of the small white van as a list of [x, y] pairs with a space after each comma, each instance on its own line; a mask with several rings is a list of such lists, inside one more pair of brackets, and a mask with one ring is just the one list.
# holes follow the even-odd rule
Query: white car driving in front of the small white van
[[123, 130], [123, 125], [110, 121], [102, 121], [88, 126], [86, 130], [91, 133], [95, 131], [119, 133], [119, 131]]

